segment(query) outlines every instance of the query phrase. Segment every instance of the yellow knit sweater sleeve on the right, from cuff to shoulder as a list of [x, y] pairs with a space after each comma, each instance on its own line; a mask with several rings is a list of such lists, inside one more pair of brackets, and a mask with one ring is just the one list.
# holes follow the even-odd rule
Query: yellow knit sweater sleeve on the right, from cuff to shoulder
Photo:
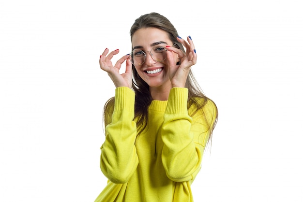
[[191, 117], [189, 112], [196, 107], [187, 109], [187, 98], [187, 88], [171, 89], [162, 127], [163, 166], [167, 177], [176, 182], [195, 179], [209, 138], [209, 122], [215, 116], [210, 101]]

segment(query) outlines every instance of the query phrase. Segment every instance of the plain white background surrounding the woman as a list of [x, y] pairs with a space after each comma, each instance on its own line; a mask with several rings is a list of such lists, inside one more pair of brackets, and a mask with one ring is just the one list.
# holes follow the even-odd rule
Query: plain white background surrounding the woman
[[167, 16], [198, 54], [193, 71], [219, 109], [196, 202], [302, 202], [300, 0], [0, 2], [0, 201], [93, 202], [107, 47], [130, 52], [141, 14]]

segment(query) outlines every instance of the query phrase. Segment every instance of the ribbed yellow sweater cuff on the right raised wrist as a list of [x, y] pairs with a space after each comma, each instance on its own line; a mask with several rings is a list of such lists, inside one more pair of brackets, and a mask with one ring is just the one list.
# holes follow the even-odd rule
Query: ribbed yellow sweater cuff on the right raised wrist
[[185, 87], [171, 88], [166, 108], [167, 114], [187, 114], [188, 89]]

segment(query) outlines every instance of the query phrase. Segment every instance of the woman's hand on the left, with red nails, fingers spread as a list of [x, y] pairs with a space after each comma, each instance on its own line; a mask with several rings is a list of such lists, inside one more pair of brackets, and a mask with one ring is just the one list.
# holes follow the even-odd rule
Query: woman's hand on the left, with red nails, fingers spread
[[[119, 53], [119, 49], [114, 50], [108, 54], [108, 48], [100, 56], [99, 64], [102, 70], [107, 72], [111, 80], [114, 82], [115, 87], [132, 87], [132, 63], [129, 59], [129, 55], [120, 58], [115, 66], [113, 66], [111, 59], [114, 55]], [[108, 55], [107, 55], [108, 54]], [[107, 56], [106, 56], [107, 55]], [[126, 60], [125, 72], [120, 74], [120, 68], [122, 63]]]

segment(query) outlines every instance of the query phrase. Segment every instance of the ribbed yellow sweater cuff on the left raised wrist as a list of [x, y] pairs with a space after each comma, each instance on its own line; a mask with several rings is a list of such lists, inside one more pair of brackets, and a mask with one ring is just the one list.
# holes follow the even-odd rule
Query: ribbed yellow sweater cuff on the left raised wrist
[[129, 87], [117, 87], [115, 90], [115, 109], [114, 111], [134, 111], [135, 92]]

